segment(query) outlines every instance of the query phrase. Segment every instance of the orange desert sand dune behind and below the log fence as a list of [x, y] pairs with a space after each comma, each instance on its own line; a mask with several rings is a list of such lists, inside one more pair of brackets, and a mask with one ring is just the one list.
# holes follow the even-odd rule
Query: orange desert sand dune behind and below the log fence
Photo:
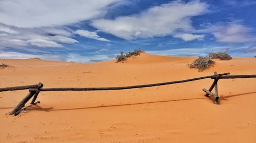
[[[215, 60], [203, 72], [196, 57], [141, 53], [124, 63], [0, 60], [0, 88], [120, 87], [218, 73], [256, 74], [256, 58]], [[220, 79], [220, 105], [205, 97], [212, 79], [118, 91], [40, 92], [18, 116], [28, 90], [0, 92], [0, 142], [256, 142], [256, 78]], [[28, 102], [30, 103], [30, 102]], [[29, 104], [27, 104], [29, 105]]]

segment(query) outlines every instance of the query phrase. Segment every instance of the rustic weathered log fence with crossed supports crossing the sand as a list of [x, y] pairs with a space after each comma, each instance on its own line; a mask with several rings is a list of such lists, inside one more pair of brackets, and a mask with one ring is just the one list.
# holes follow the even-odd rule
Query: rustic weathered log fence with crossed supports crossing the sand
[[[25, 85], [25, 86], [19, 86], [19, 87], [7, 87], [7, 88], [0, 88], [0, 92], [5, 91], [16, 91], [16, 90], [29, 90], [29, 94], [19, 102], [19, 104], [10, 112], [10, 115], [18, 115], [22, 110], [25, 110], [27, 107], [35, 105], [37, 103], [40, 103], [39, 101], [35, 102], [38, 94], [40, 92], [45, 91], [106, 91], [106, 90], [125, 90], [125, 89], [136, 89], [136, 88], [147, 88], [147, 87], [155, 87], [160, 85], [167, 85], [167, 84], [175, 84], [175, 83], [182, 83], [182, 82], [188, 82], [188, 81], [194, 81], [194, 80], [201, 80], [205, 78], [211, 78], [214, 79], [214, 82], [211, 84], [209, 90], [206, 90], [205, 88], [203, 91], [206, 93], [206, 97], [211, 97], [215, 100], [215, 104], [219, 104], [219, 96], [218, 96], [218, 80], [219, 79], [229, 79], [229, 78], [255, 78], [256, 75], [228, 75], [230, 73], [222, 73], [217, 74], [217, 72], [214, 73], [214, 75], [210, 76], [203, 76], [198, 78], [191, 78], [191, 79], [185, 79], [185, 80], [178, 80], [178, 81], [170, 81], [170, 82], [162, 82], [162, 83], [154, 83], [154, 84], [144, 84], [144, 85], [133, 85], [129, 87], [108, 87], [108, 88], [42, 88], [44, 87], [44, 84], [38, 83], [34, 85]], [[212, 93], [211, 91], [215, 88], [215, 93]], [[33, 97], [34, 96], [34, 97]], [[31, 103], [29, 106], [25, 107], [25, 104], [31, 99]], [[24, 108], [23, 108], [24, 107]]]

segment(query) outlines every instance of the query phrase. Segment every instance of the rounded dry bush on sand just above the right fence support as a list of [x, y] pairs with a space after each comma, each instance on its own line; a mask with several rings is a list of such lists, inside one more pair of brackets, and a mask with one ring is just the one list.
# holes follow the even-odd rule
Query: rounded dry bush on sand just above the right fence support
[[189, 68], [197, 68], [198, 71], [203, 71], [211, 66], [214, 66], [215, 62], [208, 56], [199, 56], [198, 59], [189, 64]]

